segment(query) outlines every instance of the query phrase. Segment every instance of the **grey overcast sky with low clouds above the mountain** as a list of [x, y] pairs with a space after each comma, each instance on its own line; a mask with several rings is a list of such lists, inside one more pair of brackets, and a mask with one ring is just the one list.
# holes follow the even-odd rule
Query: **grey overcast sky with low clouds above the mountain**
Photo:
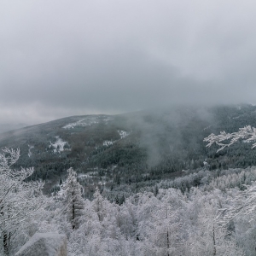
[[256, 2], [2, 0], [1, 123], [256, 103]]

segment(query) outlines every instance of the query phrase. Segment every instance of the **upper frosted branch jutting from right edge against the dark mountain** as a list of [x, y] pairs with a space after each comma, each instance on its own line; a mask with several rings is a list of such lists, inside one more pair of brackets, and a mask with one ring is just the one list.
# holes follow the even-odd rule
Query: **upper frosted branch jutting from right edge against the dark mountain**
[[[256, 128], [251, 125], [247, 125], [243, 128], [239, 128], [239, 131], [226, 133], [225, 131], [220, 131], [219, 135], [214, 133], [210, 134], [208, 137], [204, 138], [204, 142], [207, 142], [207, 148], [211, 147], [212, 144], [216, 143], [220, 148], [218, 151], [230, 147], [230, 145], [236, 143], [238, 140], [244, 140], [244, 142], [251, 143], [256, 141]], [[223, 142], [227, 143], [223, 143]], [[256, 143], [253, 143], [253, 147], [256, 147]], [[217, 152], [218, 152], [217, 151]]]

